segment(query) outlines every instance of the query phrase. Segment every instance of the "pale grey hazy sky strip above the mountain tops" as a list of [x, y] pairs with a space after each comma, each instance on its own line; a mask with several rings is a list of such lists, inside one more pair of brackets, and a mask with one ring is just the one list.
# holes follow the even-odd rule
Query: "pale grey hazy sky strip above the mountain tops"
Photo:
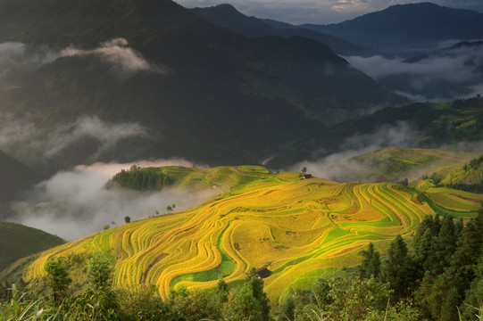
[[[414, 0], [175, 0], [187, 7], [233, 4], [238, 11], [257, 18], [270, 18], [295, 24], [335, 23], [395, 4], [421, 3]], [[483, 12], [483, 0], [432, 0], [435, 4]]]

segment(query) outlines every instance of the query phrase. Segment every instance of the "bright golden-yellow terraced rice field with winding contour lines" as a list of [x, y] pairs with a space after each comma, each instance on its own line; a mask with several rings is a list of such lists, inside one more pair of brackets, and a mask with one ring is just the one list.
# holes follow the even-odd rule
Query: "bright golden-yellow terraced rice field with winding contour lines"
[[[242, 172], [250, 168], [233, 168]], [[100, 248], [117, 254], [115, 284], [155, 284], [165, 298], [171, 287], [237, 284], [249, 268], [269, 268], [271, 300], [304, 286], [331, 268], [359, 263], [368, 243], [384, 248], [397, 234], [410, 237], [422, 218], [449, 209], [466, 218], [479, 204], [402, 185], [339, 184], [298, 173], [266, 175], [194, 209], [140, 220], [44, 252], [29, 277], [45, 274], [47, 259], [69, 258]], [[448, 193], [443, 193], [448, 194]], [[421, 197], [429, 201], [424, 201]], [[466, 198], [481, 198], [465, 193]], [[433, 200], [434, 199], [434, 200]], [[464, 206], [460, 206], [464, 204]]]

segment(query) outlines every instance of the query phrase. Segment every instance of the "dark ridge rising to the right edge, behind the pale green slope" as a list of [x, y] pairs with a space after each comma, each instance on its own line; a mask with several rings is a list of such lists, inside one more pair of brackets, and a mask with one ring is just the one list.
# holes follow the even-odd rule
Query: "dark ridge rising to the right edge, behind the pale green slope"
[[[334, 139], [337, 137], [337, 139]], [[483, 98], [446, 103], [411, 103], [384, 108], [324, 128], [286, 146], [266, 164], [280, 169], [299, 161], [321, 161], [332, 153], [368, 147], [438, 148], [483, 139]]]

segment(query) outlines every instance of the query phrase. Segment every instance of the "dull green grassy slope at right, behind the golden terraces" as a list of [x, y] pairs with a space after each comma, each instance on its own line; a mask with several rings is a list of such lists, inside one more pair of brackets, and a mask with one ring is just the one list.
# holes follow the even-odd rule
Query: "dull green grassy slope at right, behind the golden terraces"
[[448, 152], [438, 149], [390, 147], [354, 157], [354, 161], [369, 166], [373, 175], [395, 180], [413, 170], [426, 170], [443, 165], [461, 163], [470, 153]]

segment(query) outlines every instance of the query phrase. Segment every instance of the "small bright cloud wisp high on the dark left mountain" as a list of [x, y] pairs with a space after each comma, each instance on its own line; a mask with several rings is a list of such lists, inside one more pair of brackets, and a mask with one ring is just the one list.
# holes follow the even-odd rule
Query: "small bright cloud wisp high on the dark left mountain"
[[62, 57], [97, 55], [104, 61], [112, 63], [119, 70], [137, 71], [146, 70], [166, 74], [168, 68], [160, 64], [147, 62], [141, 53], [128, 46], [128, 41], [124, 38], [113, 38], [101, 43], [99, 47], [92, 50], [76, 49], [72, 46], [63, 49], [60, 53]]

